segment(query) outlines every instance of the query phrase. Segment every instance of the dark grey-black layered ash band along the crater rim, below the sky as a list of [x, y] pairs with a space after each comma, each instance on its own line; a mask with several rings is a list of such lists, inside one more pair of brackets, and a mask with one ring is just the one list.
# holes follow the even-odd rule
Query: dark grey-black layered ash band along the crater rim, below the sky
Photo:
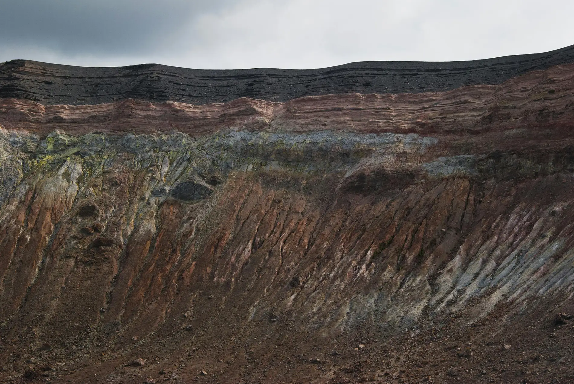
[[0, 67], [0, 98], [42, 104], [99, 104], [123, 99], [221, 103], [241, 97], [285, 102], [302, 96], [446, 91], [500, 84], [574, 62], [574, 45], [552, 52], [452, 62], [364, 61], [321, 69], [203, 70], [142, 64], [85, 68], [13, 60]]

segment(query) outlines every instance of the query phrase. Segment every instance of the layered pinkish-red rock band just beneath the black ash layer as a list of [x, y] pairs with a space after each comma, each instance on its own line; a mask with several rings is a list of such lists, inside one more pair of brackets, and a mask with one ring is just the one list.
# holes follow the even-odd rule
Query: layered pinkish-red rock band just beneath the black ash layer
[[[241, 98], [201, 106], [133, 99], [95, 106], [44, 106], [21, 99], [0, 99], [5, 129], [40, 135], [59, 130], [72, 135], [170, 133], [192, 136], [222, 129], [248, 131], [337, 130], [360, 133], [461, 134], [475, 140], [509, 130], [528, 141], [541, 131], [569, 137], [574, 95], [574, 64], [529, 72], [497, 86], [468, 86], [448, 92], [309, 96], [285, 103]], [[519, 130], [528, 127], [528, 131]], [[489, 138], [490, 140], [490, 138]], [[521, 140], [497, 145], [521, 146]], [[476, 142], [475, 142], [476, 145]]]

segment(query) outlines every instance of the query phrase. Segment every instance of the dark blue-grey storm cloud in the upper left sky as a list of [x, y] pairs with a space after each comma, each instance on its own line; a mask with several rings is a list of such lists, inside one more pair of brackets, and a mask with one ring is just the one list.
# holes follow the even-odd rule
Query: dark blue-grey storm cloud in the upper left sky
[[0, 0], [0, 49], [138, 54], [169, 45], [197, 16], [230, 0]]

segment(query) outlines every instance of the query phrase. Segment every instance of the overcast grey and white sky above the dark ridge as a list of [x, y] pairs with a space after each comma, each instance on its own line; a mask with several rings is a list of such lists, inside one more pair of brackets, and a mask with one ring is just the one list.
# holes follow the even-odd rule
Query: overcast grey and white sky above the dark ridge
[[0, 62], [320, 68], [574, 44], [573, 0], [0, 0]]

